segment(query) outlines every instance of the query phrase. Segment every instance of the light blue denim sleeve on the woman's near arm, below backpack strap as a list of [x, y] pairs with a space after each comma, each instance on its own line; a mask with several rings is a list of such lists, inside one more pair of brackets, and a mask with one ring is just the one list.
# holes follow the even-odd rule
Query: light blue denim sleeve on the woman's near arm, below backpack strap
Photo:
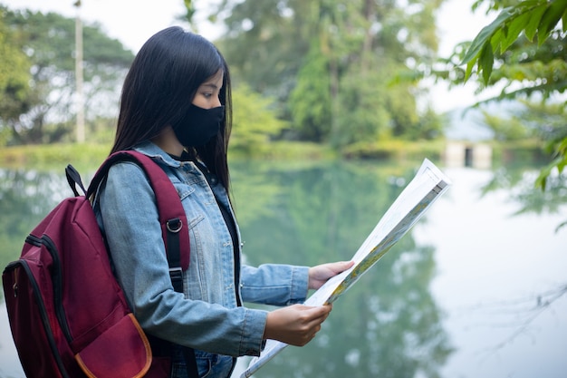
[[99, 200], [117, 278], [146, 332], [209, 353], [260, 354], [267, 312], [229, 309], [175, 292], [155, 196], [137, 165], [113, 166]]

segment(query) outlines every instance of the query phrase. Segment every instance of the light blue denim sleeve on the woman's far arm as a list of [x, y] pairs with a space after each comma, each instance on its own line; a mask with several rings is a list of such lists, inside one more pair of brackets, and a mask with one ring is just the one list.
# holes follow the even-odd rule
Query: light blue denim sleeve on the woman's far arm
[[308, 267], [265, 264], [243, 266], [241, 295], [245, 302], [264, 305], [293, 305], [307, 297]]

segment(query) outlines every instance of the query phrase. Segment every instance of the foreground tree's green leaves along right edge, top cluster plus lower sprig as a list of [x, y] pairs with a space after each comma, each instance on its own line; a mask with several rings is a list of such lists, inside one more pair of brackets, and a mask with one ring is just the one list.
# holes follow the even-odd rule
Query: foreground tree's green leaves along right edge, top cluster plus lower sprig
[[[477, 0], [475, 7], [483, 0]], [[463, 80], [476, 73], [485, 87], [501, 82], [498, 99], [539, 93], [543, 102], [567, 89], [567, 0], [490, 0], [489, 9], [500, 11], [486, 25], [463, 56]], [[474, 71], [476, 68], [476, 72]], [[563, 108], [567, 102], [563, 102]], [[567, 166], [567, 127], [549, 128], [547, 150], [552, 162], [541, 171], [536, 185], [545, 189], [553, 170]], [[563, 222], [560, 227], [567, 225]]]

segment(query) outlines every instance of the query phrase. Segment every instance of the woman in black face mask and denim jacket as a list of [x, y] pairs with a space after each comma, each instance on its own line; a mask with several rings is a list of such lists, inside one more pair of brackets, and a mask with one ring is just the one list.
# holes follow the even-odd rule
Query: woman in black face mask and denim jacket
[[[228, 196], [231, 119], [230, 75], [213, 44], [170, 27], [142, 46], [124, 82], [111, 151], [149, 155], [178, 190], [191, 243], [184, 293], [171, 285], [154, 193], [137, 165], [111, 168], [95, 210], [134, 315], [147, 334], [176, 345], [172, 377], [187, 377], [181, 346], [195, 349], [199, 376], [228, 377], [235, 357], [260, 354], [265, 339], [308, 343], [331, 306], [296, 304], [351, 267], [241, 267]], [[242, 302], [285, 306], [267, 312]]]

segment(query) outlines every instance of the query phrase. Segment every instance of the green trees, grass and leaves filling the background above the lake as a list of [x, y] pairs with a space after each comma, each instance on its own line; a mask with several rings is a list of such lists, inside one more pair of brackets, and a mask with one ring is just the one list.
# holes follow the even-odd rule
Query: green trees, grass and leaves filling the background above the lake
[[[194, 3], [186, 5], [187, 26], [195, 29]], [[509, 2], [478, 0], [475, 7], [483, 3], [497, 12]], [[517, 105], [506, 108], [507, 114], [484, 112], [484, 127], [492, 135], [485, 142], [493, 144], [495, 159], [535, 151], [551, 161], [549, 171], [562, 168], [564, 103], [541, 100], [553, 100], [553, 93], [565, 88], [567, 48], [556, 26], [564, 6], [529, 3], [532, 8], [518, 5], [512, 14], [506, 8], [479, 40], [459, 44], [447, 59], [437, 56], [436, 14], [442, 0], [411, 6], [380, 0], [349, 5], [245, 0], [210, 7], [209, 18], [226, 26], [215, 43], [230, 63], [234, 82], [231, 157], [440, 159], [449, 125], [434, 111], [423, 79], [459, 85], [478, 78], [481, 90], [505, 83], [491, 102]], [[518, 34], [498, 32], [506, 27]], [[110, 148], [121, 82], [134, 53], [101, 25], [83, 25], [82, 142], [75, 20], [0, 6], [0, 32], [0, 164], [101, 160]], [[537, 44], [530, 40], [534, 35]], [[500, 50], [493, 52], [498, 44]], [[518, 82], [533, 85], [508, 91]], [[514, 146], [519, 148], [512, 153]]]

